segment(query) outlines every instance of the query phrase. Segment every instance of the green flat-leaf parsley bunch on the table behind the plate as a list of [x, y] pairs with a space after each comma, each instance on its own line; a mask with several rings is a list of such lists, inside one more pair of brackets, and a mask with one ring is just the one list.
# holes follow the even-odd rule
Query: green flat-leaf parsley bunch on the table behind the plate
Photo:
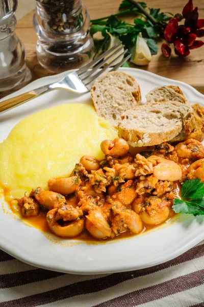
[[[139, 2], [142, 8], [146, 8], [146, 3]], [[137, 18], [134, 19], [134, 24], [126, 23], [124, 20], [119, 20], [118, 16], [124, 14], [135, 14]], [[173, 14], [160, 12], [160, 9], [149, 9], [149, 15], [156, 21], [151, 23], [146, 16], [141, 13], [133, 4], [123, 0], [119, 6], [119, 12], [91, 20], [90, 34], [93, 36], [97, 32], [101, 32], [103, 38], [95, 39], [96, 54], [107, 49], [110, 35], [120, 39], [128, 53], [131, 53], [133, 47], [136, 45], [138, 34], [141, 33], [145, 38], [151, 54], [157, 54], [157, 39], [164, 33], [164, 29]]]

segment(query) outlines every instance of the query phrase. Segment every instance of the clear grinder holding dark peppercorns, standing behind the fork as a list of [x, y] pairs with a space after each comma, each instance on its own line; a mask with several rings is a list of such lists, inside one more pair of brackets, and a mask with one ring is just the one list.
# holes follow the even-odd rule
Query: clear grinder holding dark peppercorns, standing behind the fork
[[81, 0], [36, 0], [33, 25], [42, 67], [60, 73], [91, 61], [94, 45], [89, 24], [89, 14]]

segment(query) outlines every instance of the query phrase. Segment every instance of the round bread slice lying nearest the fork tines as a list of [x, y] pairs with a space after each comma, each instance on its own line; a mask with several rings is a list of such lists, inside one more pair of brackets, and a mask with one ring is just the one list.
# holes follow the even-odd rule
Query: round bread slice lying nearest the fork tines
[[97, 114], [117, 127], [121, 114], [140, 104], [140, 86], [123, 72], [109, 72], [94, 82], [91, 98]]

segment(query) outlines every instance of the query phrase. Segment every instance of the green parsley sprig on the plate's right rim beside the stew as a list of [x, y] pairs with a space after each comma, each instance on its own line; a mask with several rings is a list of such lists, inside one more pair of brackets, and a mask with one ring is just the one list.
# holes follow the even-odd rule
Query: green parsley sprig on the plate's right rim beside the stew
[[200, 179], [187, 180], [182, 185], [182, 200], [174, 199], [175, 213], [204, 215], [204, 184]]

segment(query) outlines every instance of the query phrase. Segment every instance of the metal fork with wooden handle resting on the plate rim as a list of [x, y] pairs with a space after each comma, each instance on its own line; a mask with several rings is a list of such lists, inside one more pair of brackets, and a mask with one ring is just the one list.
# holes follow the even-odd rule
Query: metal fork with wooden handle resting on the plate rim
[[[124, 54], [127, 52], [127, 49], [117, 55], [118, 52], [123, 49], [123, 47], [124, 46], [122, 45], [122, 43], [119, 42], [110, 50], [107, 50], [105, 53], [101, 54], [99, 57], [97, 57], [90, 63], [84, 65], [78, 71], [68, 73], [61, 80], [38, 87], [35, 90], [31, 90], [27, 93], [0, 102], [0, 114], [7, 112], [18, 105], [21, 105], [31, 99], [34, 99], [42, 94], [53, 90], [67, 90], [78, 94], [84, 94], [89, 92], [93, 82], [109, 67], [111, 67], [114, 62], [116, 62], [121, 56], [124, 56]], [[114, 65], [111, 71], [117, 70], [126, 60], [130, 58], [130, 56], [131, 55], [126, 56], [119, 63]], [[109, 62], [109, 64], [104, 66], [104, 64], [106, 64], [108, 60], [111, 60], [112, 57], [114, 57], [114, 59]], [[90, 68], [92, 68], [92, 70], [90, 70]], [[98, 71], [98, 69], [100, 70]]]

